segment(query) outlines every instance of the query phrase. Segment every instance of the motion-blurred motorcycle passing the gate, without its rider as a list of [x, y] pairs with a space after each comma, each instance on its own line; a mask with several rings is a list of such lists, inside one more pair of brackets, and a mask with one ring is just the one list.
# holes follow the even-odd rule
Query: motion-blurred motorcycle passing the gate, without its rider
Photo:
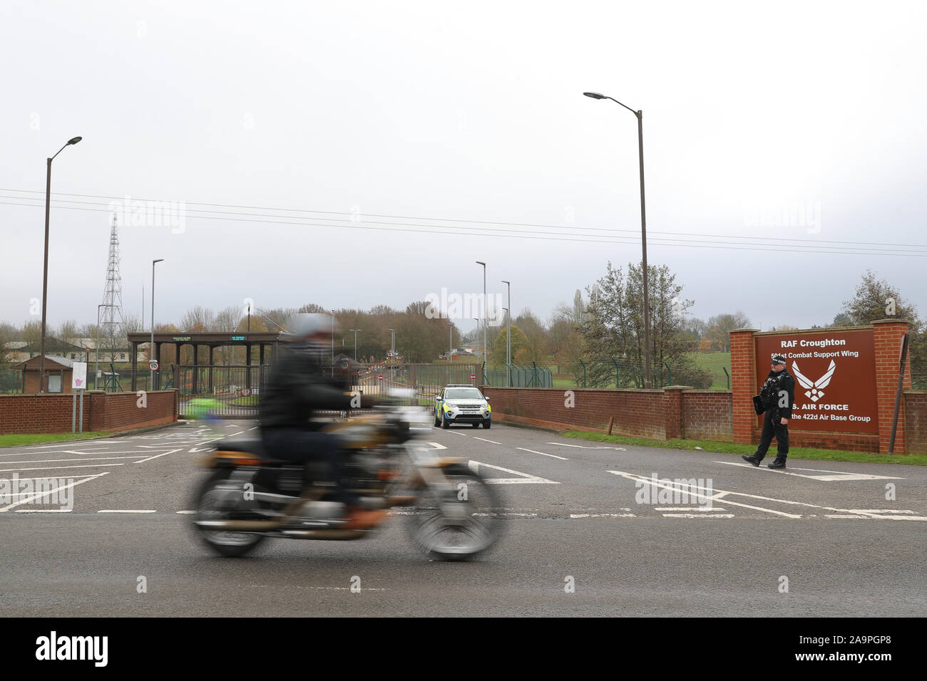
[[[392, 397], [413, 397], [391, 391]], [[463, 561], [492, 547], [502, 532], [502, 503], [492, 485], [463, 458], [416, 446], [425, 411], [398, 404], [330, 423], [343, 455], [341, 485], [368, 510], [400, 512], [416, 548], [433, 560]], [[419, 427], [416, 428], [416, 425]], [[273, 460], [260, 439], [222, 440], [201, 465], [210, 469], [196, 494], [196, 533], [222, 556], [244, 556], [267, 537], [352, 540], [371, 536], [346, 527], [333, 500], [327, 466]]]

